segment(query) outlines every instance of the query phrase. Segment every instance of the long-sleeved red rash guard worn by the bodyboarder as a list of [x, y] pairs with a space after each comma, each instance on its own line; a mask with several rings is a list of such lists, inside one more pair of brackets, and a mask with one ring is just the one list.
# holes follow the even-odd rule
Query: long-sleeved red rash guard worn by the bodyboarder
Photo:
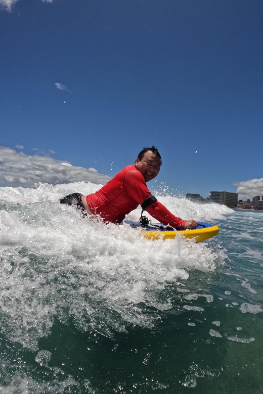
[[[152, 195], [143, 174], [133, 164], [123, 168], [96, 193], [86, 196], [93, 215], [100, 215], [105, 223], [120, 223], [130, 211], [142, 205]], [[165, 226], [183, 228], [185, 221], [172, 215], [161, 203], [152, 203], [146, 211]]]

